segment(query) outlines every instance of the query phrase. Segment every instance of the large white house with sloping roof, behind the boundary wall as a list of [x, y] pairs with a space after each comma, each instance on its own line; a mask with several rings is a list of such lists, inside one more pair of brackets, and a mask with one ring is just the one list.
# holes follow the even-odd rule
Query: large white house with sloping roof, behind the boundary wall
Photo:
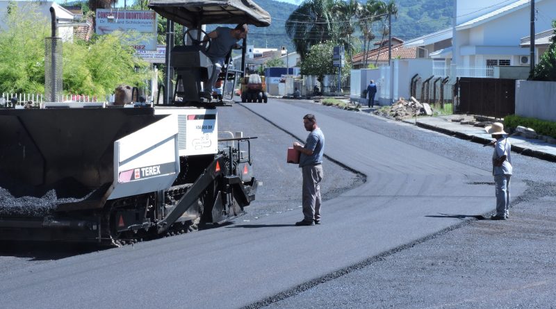
[[[535, 9], [543, 12], [535, 28], [552, 28], [556, 0], [537, 0]], [[529, 65], [530, 52], [521, 38], [530, 34], [530, 0], [457, 1], [457, 16], [455, 28], [409, 40], [405, 47], [426, 49], [430, 58], [459, 67]]]

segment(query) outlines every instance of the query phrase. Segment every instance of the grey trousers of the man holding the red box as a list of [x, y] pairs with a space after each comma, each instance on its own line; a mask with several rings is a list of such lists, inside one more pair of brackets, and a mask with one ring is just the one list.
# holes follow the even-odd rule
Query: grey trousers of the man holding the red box
[[301, 168], [303, 175], [303, 216], [306, 221], [320, 220], [320, 181], [322, 165]]

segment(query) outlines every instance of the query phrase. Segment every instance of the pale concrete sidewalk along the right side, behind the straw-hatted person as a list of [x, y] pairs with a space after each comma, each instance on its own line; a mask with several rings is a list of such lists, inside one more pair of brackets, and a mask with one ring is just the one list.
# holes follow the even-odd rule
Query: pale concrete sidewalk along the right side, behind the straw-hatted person
[[[417, 120], [411, 118], [404, 119], [403, 122], [416, 124], [421, 128], [456, 136], [464, 140], [471, 140], [480, 144], [487, 144], [492, 140], [491, 135], [486, 133], [484, 128], [480, 126], [452, 122], [452, 119], [461, 119], [461, 117], [464, 116], [418, 117]], [[512, 143], [512, 151], [516, 153], [556, 162], [556, 144], [549, 144], [543, 140], [527, 139], [520, 135], [509, 137], [509, 141]]]

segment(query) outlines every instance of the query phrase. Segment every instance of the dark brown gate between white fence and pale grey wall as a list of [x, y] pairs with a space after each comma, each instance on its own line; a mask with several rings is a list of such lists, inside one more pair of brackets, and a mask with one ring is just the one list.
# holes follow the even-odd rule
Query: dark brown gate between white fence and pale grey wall
[[462, 114], [502, 118], [516, 110], [516, 81], [500, 78], [461, 77], [459, 108]]

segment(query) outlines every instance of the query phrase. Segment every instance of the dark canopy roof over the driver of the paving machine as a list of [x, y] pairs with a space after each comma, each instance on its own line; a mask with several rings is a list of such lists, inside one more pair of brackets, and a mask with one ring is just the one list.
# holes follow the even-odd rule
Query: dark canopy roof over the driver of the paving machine
[[203, 24], [270, 26], [270, 15], [250, 0], [150, 0], [149, 8], [188, 28]]

